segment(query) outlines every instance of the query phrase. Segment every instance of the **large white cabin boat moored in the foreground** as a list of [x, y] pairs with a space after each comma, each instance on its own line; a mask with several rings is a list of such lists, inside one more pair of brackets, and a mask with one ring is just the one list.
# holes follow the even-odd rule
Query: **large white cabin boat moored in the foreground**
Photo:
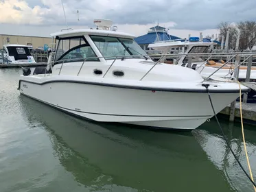
[[98, 29], [51, 34], [58, 40], [53, 64], [34, 75], [24, 70], [20, 93], [94, 121], [178, 130], [213, 117], [206, 86], [216, 112], [239, 97], [238, 84], [204, 81], [192, 69], [153, 62], [135, 36], [111, 30], [108, 20], [95, 23]]

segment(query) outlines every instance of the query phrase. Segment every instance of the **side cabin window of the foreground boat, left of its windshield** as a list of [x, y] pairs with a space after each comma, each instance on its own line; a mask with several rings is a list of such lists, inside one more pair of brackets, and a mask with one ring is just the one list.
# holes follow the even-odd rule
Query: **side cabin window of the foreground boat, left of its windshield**
[[56, 62], [100, 61], [83, 37], [60, 39], [56, 51]]

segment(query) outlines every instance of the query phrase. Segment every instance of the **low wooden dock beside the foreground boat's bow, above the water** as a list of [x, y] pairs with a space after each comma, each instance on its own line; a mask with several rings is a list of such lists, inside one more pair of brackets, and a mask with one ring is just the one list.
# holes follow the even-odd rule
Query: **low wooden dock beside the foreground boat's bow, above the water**
[[[230, 115], [231, 105], [226, 106], [220, 115]], [[242, 115], [244, 123], [256, 124], [256, 104], [255, 103], [242, 103]], [[235, 119], [240, 121], [240, 102], [235, 104]]]

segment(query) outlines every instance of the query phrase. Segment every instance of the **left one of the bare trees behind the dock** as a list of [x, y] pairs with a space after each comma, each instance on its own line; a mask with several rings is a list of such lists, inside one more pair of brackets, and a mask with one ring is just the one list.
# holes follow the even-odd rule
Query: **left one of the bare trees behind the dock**
[[224, 42], [226, 40], [226, 34], [229, 31], [229, 48], [235, 49], [235, 42], [237, 39], [237, 27], [235, 25], [231, 25], [228, 22], [222, 22], [218, 25], [218, 29], [220, 30], [220, 41], [222, 40], [222, 36], [224, 36]]

